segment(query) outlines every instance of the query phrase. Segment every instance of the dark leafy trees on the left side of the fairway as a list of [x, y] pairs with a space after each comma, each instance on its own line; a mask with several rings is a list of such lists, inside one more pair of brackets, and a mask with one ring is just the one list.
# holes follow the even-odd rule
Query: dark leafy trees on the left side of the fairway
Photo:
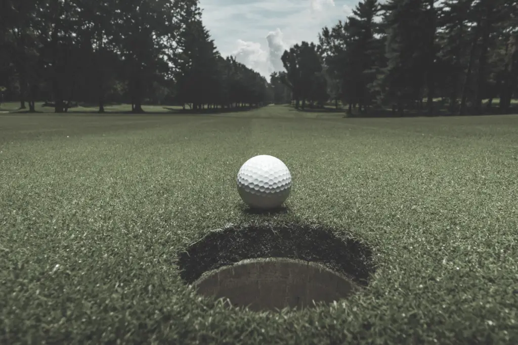
[[[73, 102], [176, 104], [198, 110], [257, 106], [273, 89], [223, 57], [198, 0], [3, 0], [0, 90], [35, 111]], [[1, 93], [1, 92], [0, 92]]]

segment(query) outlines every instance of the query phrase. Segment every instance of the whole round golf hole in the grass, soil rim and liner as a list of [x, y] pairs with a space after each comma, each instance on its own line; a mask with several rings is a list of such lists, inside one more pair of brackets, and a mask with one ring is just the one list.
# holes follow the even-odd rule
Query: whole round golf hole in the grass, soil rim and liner
[[242, 224], [212, 231], [180, 253], [198, 294], [252, 311], [302, 310], [361, 292], [373, 272], [362, 242], [314, 225]]

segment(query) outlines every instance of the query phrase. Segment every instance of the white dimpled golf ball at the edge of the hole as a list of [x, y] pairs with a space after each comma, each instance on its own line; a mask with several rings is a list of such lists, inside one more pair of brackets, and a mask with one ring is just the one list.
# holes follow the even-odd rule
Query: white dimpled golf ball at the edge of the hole
[[251, 208], [277, 208], [290, 196], [290, 170], [270, 155], [258, 155], [246, 161], [237, 174], [237, 190]]

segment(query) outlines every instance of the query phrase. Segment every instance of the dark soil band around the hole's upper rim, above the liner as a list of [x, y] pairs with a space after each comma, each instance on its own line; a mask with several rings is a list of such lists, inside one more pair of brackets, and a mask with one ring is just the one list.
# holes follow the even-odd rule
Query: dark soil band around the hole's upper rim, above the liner
[[242, 224], [209, 233], [178, 256], [181, 278], [192, 284], [204, 272], [247, 258], [287, 257], [319, 262], [366, 286], [372, 252], [330, 229], [300, 224]]

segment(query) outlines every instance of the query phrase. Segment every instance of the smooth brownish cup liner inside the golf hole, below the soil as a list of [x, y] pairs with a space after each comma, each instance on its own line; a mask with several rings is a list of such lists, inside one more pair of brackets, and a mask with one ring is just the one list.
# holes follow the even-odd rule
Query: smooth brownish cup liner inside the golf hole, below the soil
[[243, 260], [206, 272], [194, 286], [199, 294], [228, 298], [234, 306], [253, 311], [304, 309], [347, 298], [359, 289], [320, 264], [287, 258]]

